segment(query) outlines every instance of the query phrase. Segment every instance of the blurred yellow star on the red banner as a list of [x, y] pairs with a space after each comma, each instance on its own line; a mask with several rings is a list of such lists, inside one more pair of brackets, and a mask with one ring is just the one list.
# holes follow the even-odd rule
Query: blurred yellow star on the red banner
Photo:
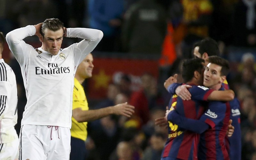
[[97, 75], [94, 75], [93, 80], [95, 81], [94, 87], [96, 89], [103, 87], [103, 88], [108, 88], [108, 83], [111, 79], [111, 76], [108, 76], [105, 74], [105, 71], [103, 69], [100, 69], [100, 72]]

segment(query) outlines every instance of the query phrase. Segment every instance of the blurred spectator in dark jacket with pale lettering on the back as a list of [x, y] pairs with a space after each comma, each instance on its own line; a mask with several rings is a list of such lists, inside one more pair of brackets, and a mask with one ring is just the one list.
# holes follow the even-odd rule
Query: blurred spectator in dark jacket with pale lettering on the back
[[156, 0], [139, 0], [125, 12], [122, 46], [125, 52], [161, 54], [166, 33], [166, 12]]

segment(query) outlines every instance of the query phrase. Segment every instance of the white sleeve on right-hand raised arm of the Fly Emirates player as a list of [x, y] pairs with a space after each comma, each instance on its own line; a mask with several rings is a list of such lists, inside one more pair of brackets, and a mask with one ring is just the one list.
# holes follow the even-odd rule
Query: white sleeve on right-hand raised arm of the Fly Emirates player
[[84, 40], [74, 45], [74, 56], [78, 60], [78, 64], [86, 55], [93, 51], [103, 37], [103, 32], [97, 29], [90, 28], [68, 28], [67, 37], [82, 38]]

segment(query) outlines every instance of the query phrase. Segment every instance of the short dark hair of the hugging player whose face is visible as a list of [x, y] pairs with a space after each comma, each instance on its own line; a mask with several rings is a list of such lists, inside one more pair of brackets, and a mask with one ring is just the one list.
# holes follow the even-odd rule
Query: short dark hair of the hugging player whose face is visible
[[220, 76], [227, 76], [228, 75], [229, 64], [228, 64], [227, 60], [225, 60], [224, 58], [221, 58], [219, 56], [212, 55], [212, 56], [209, 56], [207, 58], [207, 61], [209, 63], [213, 63], [213, 64], [217, 64], [217, 65], [221, 66]]

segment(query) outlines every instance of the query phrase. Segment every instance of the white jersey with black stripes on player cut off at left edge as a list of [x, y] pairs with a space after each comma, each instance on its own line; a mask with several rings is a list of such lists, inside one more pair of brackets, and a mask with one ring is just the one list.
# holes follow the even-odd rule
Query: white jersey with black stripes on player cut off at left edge
[[17, 124], [17, 84], [12, 68], [0, 59], [0, 143], [18, 138], [14, 126]]

